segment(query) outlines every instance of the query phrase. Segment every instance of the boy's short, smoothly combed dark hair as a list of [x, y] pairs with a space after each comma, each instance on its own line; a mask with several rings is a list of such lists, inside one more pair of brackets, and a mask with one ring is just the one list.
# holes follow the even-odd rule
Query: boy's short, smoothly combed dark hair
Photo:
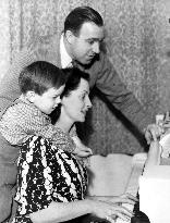
[[66, 79], [66, 74], [56, 65], [46, 61], [36, 61], [23, 69], [19, 85], [22, 94], [33, 90], [41, 96], [51, 87], [60, 88]]

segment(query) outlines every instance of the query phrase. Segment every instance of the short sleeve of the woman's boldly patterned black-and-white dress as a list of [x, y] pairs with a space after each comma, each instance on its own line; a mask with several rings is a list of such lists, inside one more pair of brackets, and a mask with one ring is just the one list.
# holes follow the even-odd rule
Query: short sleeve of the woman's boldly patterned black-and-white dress
[[21, 149], [15, 200], [21, 205], [22, 214], [45, 209], [52, 200], [52, 177], [48, 159], [51, 156], [50, 147], [48, 140], [33, 136]]

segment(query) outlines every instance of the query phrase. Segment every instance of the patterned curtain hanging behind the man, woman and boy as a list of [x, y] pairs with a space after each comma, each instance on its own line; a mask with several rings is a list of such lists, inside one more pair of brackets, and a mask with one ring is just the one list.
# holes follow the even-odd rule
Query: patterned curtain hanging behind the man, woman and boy
[[[109, 57], [122, 82], [147, 109], [150, 120], [170, 107], [169, 0], [1, 0], [5, 12], [7, 70], [15, 53], [36, 36], [61, 32], [68, 13], [89, 5], [104, 17]], [[4, 3], [5, 2], [5, 3]], [[1, 3], [2, 4], [2, 3]], [[3, 12], [4, 9], [0, 8]], [[0, 13], [1, 14], [1, 13]], [[7, 18], [5, 18], [7, 17]], [[9, 24], [9, 27], [8, 27]], [[1, 35], [2, 36], [2, 35]], [[0, 37], [1, 38], [1, 37]], [[8, 53], [5, 53], [8, 51]], [[0, 58], [0, 59], [1, 59]], [[94, 153], [135, 153], [144, 147], [98, 94], [84, 125], [86, 144]]]

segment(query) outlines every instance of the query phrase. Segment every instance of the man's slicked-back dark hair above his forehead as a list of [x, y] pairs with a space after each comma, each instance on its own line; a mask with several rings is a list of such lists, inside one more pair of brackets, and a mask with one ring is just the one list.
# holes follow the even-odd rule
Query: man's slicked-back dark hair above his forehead
[[82, 25], [86, 22], [104, 26], [102, 17], [96, 10], [90, 7], [77, 7], [65, 18], [64, 34], [66, 30], [71, 30], [75, 36], [78, 36]]

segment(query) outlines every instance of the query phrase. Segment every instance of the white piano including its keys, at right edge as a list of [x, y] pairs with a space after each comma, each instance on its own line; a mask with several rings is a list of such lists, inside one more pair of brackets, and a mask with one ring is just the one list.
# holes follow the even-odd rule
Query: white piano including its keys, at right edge
[[133, 162], [125, 193], [138, 196], [138, 210], [123, 205], [135, 215], [116, 223], [170, 223], [170, 133], [153, 143], [148, 154], [135, 154]]

